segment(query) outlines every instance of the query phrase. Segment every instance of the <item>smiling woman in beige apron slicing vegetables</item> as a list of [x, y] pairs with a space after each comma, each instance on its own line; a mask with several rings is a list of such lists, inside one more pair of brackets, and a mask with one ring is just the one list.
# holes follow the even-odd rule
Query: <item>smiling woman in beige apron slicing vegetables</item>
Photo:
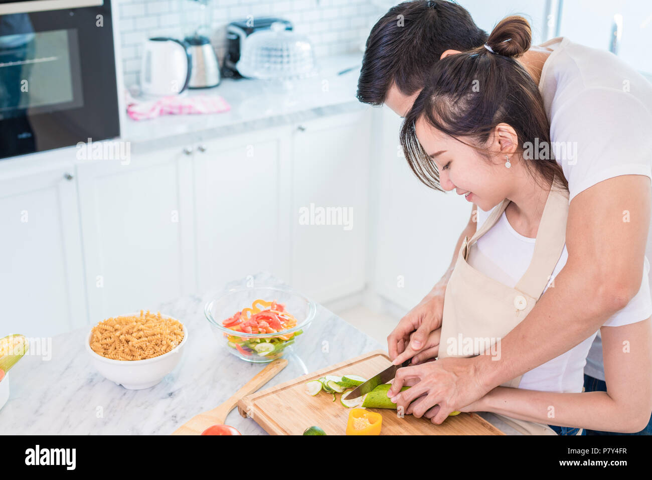
[[[548, 145], [550, 153], [554, 145], [537, 85], [514, 60], [530, 42], [526, 20], [509, 17], [481, 48], [439, 61], [402, 127], [404, 153], [423, 183], [455, 188], [491, 211], [458, 254], [445, 294], [439, 358], [486, 354], [499, 361], [499, 339], [546, 288], [572, 288], [554, 284], [567, 260], [567, 182], [541, 149]], [[652, 410], [647, 271], [646, 261], [638, 294], [600, 329], [606, 392], [581, 393], [596, 332], [462, 410], [496, 413], [527, 434], [644, 428]], [[412, 397], [422, 397], [406, 413], [428, 395], [424, 382], [413, 389], [419, 390]]]

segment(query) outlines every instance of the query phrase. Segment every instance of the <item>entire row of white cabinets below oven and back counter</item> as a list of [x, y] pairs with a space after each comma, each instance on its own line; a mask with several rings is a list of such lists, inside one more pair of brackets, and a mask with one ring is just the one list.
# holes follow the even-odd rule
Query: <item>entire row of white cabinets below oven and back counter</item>
[[[0, 246], [9, 252], [2, 329], [55, 335], [261, 270], [316, 301], [361, 292], [370, 117], [361, 109], [198, 134], [155, 151], [132, 144], [123, 161], [83, 160], [76, 149], [54, 155], [57, 167], [49, 158], [8, 160], [0, 169]], [[346, 216], [320, 222], [319, 209]]]

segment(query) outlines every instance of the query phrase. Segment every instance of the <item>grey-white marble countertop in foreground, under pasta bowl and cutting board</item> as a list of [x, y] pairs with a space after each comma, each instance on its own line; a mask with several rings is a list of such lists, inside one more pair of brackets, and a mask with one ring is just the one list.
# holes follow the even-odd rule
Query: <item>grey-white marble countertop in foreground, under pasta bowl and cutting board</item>
[[[258, 285], [284, 285], [267, 273]], [[244, 285], [233, 282], [227, 288]], [[9, 372], [10, 396], [0, 410], [0, 435], [162, 434], [168, 435], [197, 413], [225, 402], [267, 364], [243, 361], [218, 344], [203, 315], [215, 295], [191, 296], [160, 305], [160, 312], [188, 328], [188, 344], [179, 365], [162, 382], [127, 390], [106, 380], [89, 361], [84, 339], [90, 326], [52, 338], [52, 354], [28, 354]], [[322, 342], [329, 352], [322, 352]], [[321, 305], [315, 320], [286, 355], [288, 366], [264, 387], [287, 382], [361, 353], [385, 348]], [[243, 435], [265, 434], [237, 408], [226, 419]]]

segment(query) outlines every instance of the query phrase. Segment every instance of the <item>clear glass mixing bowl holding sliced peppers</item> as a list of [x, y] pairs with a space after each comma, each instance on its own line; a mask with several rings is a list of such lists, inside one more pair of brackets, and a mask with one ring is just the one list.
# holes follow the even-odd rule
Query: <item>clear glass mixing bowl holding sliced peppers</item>
[[[256, 300], [284, 305], [285, 311], [297, 320], [297, 325], [275, 333], [243, 333], [222, 325], [244, 308], [252, 308]], [[204, 308], [218, 343], [236, 357], [254, 363], [267, 363], [282, 357], [291, 345], [301, 340], [316, 312], [317, 307], [310, 299], [283, 287], [234, 288], [209, 301]]]

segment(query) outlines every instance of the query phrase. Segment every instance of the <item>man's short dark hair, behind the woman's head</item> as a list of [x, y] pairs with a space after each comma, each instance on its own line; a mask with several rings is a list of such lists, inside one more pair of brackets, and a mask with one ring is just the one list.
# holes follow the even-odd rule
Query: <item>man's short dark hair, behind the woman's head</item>
[[393, 83], [404, 95], [412, 95], [424, 86], [441, 53], [471, 50], [486, 39], [469, 12], [452, 1], [399, 3], [376, 22], [367, 38], [357, 98], [381, 105]]

